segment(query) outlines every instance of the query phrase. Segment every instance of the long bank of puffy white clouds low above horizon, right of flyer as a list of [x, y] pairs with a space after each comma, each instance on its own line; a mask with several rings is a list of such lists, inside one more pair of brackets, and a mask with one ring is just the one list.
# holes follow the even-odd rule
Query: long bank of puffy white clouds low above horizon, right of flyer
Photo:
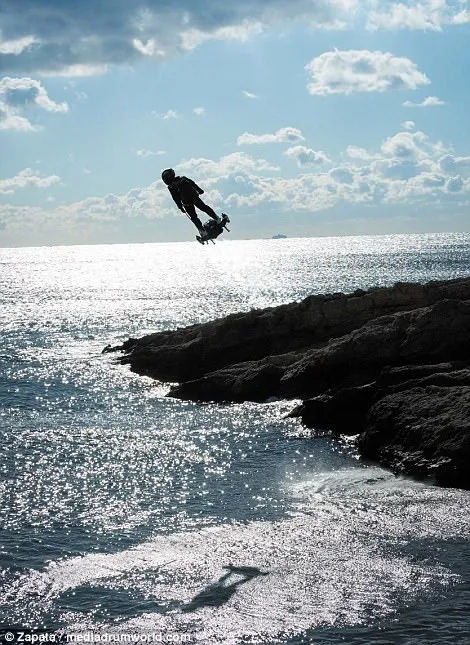
[[470, 178], [465, 179], [467, 169], [470, 175], [470, 157], [445, 153], [443, 145], [425, 133], [402, 131], [375, 151], [348, 146], [343, 157], [351, 161], [326, 173], [314, 165], [295, 178], [252, 172], [226, 199], [244, 209], [270, 210], [274, 205], [312, 213], [340, 202], [378, 207], [426, 204], [432, 210], [438, 201], [451, 200], [454, 208], [463, 208], [462, 200], [470, 196]]

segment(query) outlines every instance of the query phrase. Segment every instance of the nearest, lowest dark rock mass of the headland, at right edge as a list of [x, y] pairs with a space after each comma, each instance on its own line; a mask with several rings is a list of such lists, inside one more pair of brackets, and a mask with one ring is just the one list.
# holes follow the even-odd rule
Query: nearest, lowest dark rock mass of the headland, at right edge
[[305, 400], [309, 427], [358, 435], [361, 455], [397, 473], [470, 488], [470, 362], [384, 369], [362, 387]]

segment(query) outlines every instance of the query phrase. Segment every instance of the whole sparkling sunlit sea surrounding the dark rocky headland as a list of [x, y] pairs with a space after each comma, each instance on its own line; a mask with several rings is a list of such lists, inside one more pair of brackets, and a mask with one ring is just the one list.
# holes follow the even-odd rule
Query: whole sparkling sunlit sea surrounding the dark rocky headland
[[469, 275], [469, 233], [0, 249], [0, 640], [468, 645], [470, 491], [102, 350]]

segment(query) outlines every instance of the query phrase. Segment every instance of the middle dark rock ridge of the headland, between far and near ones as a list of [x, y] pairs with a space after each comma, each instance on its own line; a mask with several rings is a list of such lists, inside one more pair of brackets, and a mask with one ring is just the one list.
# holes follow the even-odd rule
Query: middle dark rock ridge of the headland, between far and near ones
[[183, 382], [171, 396], [201, 401], [313, 397], [365, 385], [386, 366], [470, 357], [470, 300], [382, 316], [328, 344], [260, 361], [236, 363]]

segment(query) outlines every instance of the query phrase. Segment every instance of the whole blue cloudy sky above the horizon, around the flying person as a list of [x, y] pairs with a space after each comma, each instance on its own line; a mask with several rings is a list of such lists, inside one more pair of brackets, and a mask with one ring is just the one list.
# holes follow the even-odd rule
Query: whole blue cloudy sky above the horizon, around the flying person
[[[466, 0], [0, 0], [0, 247], [470, 231]], [[204, 217], [203, 217], [204, 219]]]

